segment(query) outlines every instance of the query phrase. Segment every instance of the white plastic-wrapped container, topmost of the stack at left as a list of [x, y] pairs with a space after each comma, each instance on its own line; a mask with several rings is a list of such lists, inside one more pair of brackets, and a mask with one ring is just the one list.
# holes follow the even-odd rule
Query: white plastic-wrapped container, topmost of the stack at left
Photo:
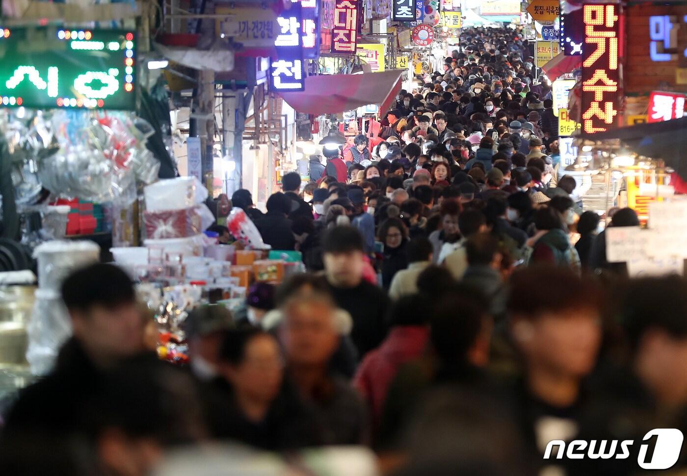
[[148, 211], [189, 209], [207, 198], [207, 189], [195, 177], [159, 180], [144, 187], [143, 193]]

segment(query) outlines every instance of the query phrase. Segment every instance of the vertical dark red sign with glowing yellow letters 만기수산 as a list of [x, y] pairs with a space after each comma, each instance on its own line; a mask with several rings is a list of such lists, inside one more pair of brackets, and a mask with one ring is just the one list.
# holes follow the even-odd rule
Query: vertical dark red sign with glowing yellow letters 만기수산
[[582, 128], [603, 132], [616, 121], [620, 80], [618, 5], [584, 5], [585, 47], [582, 60]]

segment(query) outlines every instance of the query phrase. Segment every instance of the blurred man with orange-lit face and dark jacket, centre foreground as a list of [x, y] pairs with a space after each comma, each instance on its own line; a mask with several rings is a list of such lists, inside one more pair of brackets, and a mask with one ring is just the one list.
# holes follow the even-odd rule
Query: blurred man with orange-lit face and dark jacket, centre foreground
[[363, 444], [368, 420], [359, 395], [329, 363], [339, 345], [335, 305], [326, 294], [286, 301], [280, 338], [286, 374], [300, 398], [313, 409], [324, 444]]

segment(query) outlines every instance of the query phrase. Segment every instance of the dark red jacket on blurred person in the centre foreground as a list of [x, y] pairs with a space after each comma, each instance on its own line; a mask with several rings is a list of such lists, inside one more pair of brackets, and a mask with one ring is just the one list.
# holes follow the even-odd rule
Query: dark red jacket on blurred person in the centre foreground
[[396, 326], [378, 348], [365, 355], [353, 384], [368, 403], [375, 427], [381, 421], [387, 391], [398, 368], [420, 357], [428, 339], [427, 326]]

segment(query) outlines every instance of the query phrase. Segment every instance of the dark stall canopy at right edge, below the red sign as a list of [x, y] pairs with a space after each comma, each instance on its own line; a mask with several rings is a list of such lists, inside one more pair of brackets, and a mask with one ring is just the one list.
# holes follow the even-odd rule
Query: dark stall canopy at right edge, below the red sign
[[581, 134], [589, 141], [620, 139], [636, 154], [662, 158], [668, 167], [687, 180], [687, 117], [671, 121], [638, 124], [624, 128]]

